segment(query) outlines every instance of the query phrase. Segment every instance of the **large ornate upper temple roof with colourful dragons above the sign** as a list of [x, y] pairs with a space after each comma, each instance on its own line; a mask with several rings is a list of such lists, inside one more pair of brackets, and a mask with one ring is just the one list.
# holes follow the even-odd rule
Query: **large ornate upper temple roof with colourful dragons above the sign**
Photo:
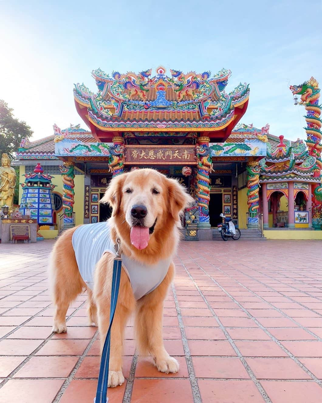
[[[76, 109], [91, 127], [97, 140], [115, 131], [206, 131], [225, 139], [245, 113], [248, 85], [240, 83], [225, 92], [230, 70], [222, 69], [211, 77], [205, 71], [182, 73], [164, 67], [138, 74], [128, 72], [112, 75], [101, 69], [92, 72], [98, 92], [84, 84], [76, 84]], [[100, 133], [103, 132], [103, 133]], [[215, 136], [216, 137], [216, 136]]]

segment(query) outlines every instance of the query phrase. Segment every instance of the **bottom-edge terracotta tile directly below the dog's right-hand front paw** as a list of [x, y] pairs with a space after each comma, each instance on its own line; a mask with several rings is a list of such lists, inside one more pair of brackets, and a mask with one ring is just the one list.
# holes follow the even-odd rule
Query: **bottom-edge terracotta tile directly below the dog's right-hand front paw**
[[131, 403], [193, 403], [188, 379], [135, 379]]

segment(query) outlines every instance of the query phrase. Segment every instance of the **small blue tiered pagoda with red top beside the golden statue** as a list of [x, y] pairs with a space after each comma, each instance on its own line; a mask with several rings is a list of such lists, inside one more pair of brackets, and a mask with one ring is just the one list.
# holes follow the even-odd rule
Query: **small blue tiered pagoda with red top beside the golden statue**
[[20, 212], [37, 220], [40, 225], [50, 225], [56, 222], [52, 176], [43, 173], [40, 163], [33, 173], [25, 174], [25, 183], [21, 183], [23, 194], [21, 197]]

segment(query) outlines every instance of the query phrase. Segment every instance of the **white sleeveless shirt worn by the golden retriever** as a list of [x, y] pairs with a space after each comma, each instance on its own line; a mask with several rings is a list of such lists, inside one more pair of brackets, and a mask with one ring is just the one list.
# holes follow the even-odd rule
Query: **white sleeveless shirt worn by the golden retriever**
[[[72, 246], [79, 272], [87, 286], [93, 289], [97, 262], [105, 252], [115, 255], [109, 222], [84, 224], [78, 227], [72, 236]], [[122, 267], [128, 275], [136, 300], [151, 293], [162, 283], [172, 262], [172, 256], [170, 256], [159, 260], [157, 264], [147, 266], [127, 258], [123, 253], [121, 257]]]

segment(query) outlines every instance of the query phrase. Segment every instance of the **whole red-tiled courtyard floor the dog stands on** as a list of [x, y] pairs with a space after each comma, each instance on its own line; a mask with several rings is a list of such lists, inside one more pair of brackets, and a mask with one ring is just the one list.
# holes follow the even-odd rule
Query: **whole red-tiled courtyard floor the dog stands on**
[[[52, 245], [53, 241], [1, 245], [7, 257], [4, 268], [0, 267], [0, 377], [8, 376], [8, 382], [0, 388], [1, 403], [6, 403], [5, 399], [8, 403], [17, 403], [17, 399], [19, 403], [52, 403], [66, 379], [66, 390], [58, 395], [57, 402], [92, 403], [95, 396], [99, 340], [94, 340], [99, 334], [88, 324], [86, 294], [70, 305], [68, 314], [73, 316], [67, 321], [68, 332], [51, 333], [54, 307], [47, 289], [46, 267]], [[192, 403], [193, 391], [197, 400], [200, 391], [202, 402], [207, 403], [263, 403], [260, 391], [220, 326], [225, 327], [229, 340], [233, 339], [244, 355], [272, 403], [320, 403], [314, 379], [258, 326], [259, 322], [266, 327], [272, 337], [299, 357], [308, 371], [322, 379], [322, 341], [317, 341], [322, 337], [319, 245], [315, 241], [182, 242], [180, 259], [175, 258], [174, 283], [182, 317], [178, 321], [176, 299], [170, 289], [163, 318], [165, 348], [180, 362], [180, 371], [163, 374], [150, 358], [139, 356], [136, 368], [132, 368], [134, 378], [128, 384], [129, 391], [133, 389], [131, 403]], [[310, 255], [309, 267], [303, 268], [299, 249]], [[275, 256], [283, 256], [278, 264]], [[220, 326], [212, 312], [218, 316]], [[181, 340], [179, 322], [184, 324], [187, 340]], [[125, 332], [125, 377], [130, 374], [135, 351], [133, 323], [130, 318]], [[7, 336], [8, 332], [12, 334]], [[41, 343], [43, 347], [33, 353]], [[81, 357], [88, 343], [91, 348], [87, 356]], [[186, 358], [184, 345], [192, 357]], [[78, 359], [80, 366], [69, 379]], [[194, 370], [199, 391], [198, 387], [192, 390], [188, 367]], [[17, 372], [10, 375], [12, 371]], [[48, 379], [26, 379], [39, 377]], [[110, 401], [121, 403], [125, 387], [126, 382], [110, 390]]]

